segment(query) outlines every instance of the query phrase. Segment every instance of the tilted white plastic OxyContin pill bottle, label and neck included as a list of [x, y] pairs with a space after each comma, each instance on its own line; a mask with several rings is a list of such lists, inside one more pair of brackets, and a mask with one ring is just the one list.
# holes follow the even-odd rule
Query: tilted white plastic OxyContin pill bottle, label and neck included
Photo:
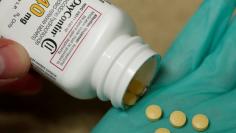
[[160, 56], [109, 2], [0, 0], [0, 12], [0, 35], [22, 44], [32, 67], [76, 98], [124, 108], [130, 84], [144, 93], [154, 77]]

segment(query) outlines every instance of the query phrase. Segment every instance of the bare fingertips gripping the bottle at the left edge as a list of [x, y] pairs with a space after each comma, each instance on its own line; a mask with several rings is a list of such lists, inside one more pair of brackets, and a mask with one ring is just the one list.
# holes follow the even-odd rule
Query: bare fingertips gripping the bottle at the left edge
[[30, 70], [30, 57], [18, 43], [0, 39], [0, 92], [34, 93], [40, 80]]

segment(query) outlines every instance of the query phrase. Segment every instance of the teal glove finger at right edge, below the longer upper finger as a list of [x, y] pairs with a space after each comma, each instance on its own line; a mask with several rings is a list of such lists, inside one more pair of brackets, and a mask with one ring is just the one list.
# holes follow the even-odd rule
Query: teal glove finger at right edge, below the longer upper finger
[[[198, 93], [221, 94], [236, 87], [236, 18], [229, 27], [220, 46], [210, 54], [191, 75], [175, 84], [175, 87]], [[183, 87], [184, 86], [184, 87]], [[178, 90], [179, 91], [179, 90]]]

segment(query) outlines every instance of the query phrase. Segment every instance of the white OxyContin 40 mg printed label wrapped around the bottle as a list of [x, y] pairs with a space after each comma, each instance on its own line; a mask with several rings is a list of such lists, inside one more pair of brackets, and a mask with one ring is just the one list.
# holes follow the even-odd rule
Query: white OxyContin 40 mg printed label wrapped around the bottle
[[[0, 35], [23, 44], [34, 68], [52, 80], [70, 64], [101, 17], [102, 13], [93, 5], [104, 3], [101, 0], [13, 1], [0, 0]], [[8, 2], [7, 7], [4, 2]]]

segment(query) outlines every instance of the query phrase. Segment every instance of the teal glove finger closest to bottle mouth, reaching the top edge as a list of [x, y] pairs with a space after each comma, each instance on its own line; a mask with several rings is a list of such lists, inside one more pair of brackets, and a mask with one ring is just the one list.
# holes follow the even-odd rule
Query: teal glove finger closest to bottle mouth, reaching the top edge
[[163, 58], [156, 81], [165, 86], [194, 71], [214, 51], [227, 29], [236, 0], [207, 0]]

